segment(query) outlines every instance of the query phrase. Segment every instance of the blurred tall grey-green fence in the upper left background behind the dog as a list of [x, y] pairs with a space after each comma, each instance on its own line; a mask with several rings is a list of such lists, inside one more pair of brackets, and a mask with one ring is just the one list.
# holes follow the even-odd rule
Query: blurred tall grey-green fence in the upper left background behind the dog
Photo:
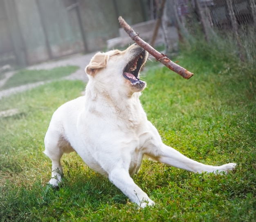
[[148, 20], [147, 0], [0, 0], [0, 65], [26, 66], [106, 47], [118, 17]]

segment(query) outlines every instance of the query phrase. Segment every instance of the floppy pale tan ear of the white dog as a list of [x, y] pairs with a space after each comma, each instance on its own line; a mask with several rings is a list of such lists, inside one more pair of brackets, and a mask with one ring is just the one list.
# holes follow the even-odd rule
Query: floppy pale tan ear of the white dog
[[106, 67], [108, 60], [109, 60], [108, 54], [97, 52], [92, 57], [89, 65], [85, 67], [85, 72], [88, 75], [93, 76], [94, 74], [96, 74], [98, 69]]

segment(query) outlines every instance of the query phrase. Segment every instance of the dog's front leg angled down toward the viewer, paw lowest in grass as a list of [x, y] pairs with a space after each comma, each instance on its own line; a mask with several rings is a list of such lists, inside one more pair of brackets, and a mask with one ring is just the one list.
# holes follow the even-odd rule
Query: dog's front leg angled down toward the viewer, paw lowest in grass
[[152, 206], [155, 203], [139, 188], [130, 177], [128, 171], [122, 168], [113, 169], [108, 175], [110, 181], [117, 186], [132, 202], [141, 208]]

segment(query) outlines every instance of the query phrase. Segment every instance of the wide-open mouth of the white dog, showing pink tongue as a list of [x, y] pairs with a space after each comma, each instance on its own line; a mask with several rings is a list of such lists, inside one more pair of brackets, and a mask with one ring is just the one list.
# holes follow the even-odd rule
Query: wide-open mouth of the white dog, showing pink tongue
[[146, 52], [142, 48], [136, 49], [136, 56], [132, 59], [124, 68], [123, 76], [127, 78], [131, 83], [139, 83], [139, 70], [141, 66], [146, 62]]

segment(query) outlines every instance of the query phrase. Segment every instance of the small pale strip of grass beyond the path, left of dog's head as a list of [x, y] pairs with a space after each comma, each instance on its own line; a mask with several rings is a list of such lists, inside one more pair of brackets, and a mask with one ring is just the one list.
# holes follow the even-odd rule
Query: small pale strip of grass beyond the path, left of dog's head
[[70, 65], [66, 67], [56, 67], [52, 70], [20, 70], [16, 72], [16, 74], [14, 74], [11, 78], [9, 78], [5, 85], [0, 87], [0, 90], [29, 83], [36, 83], [39, 81], [58, 79], [72, 74], [78, 68], [78, 66]]

